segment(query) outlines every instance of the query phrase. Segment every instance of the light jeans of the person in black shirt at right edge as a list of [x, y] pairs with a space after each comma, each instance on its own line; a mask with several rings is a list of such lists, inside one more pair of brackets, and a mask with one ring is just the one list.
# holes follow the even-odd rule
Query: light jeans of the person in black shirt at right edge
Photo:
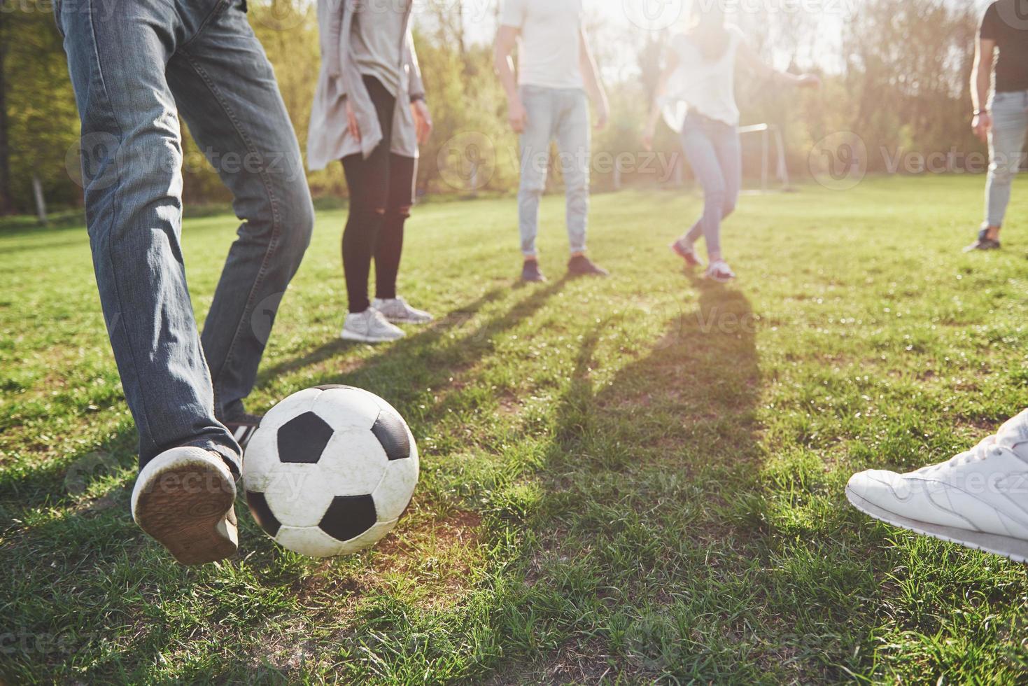
[[1002, 226], [1011, 202], [1011, 185], [1024, 160], [1028, 134], [1028, 91], [992, 97], [989, 134], [989, 180], [985, 185], [985, 223]]

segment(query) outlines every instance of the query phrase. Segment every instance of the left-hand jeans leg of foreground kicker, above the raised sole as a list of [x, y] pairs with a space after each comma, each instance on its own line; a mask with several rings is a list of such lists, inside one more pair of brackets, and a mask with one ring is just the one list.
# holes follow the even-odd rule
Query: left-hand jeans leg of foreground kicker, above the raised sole
[[177, 41], [217, 2], [97, 0], [59, 8], [82, 122], [86, 223], [100, 300], [125, 400], [139, 430], [140, 466], [196, 445], [237, 470], [240, 448], [215, 419], [211, 376], [193, 318], [179, 244], [182, 146], [164, 68]]

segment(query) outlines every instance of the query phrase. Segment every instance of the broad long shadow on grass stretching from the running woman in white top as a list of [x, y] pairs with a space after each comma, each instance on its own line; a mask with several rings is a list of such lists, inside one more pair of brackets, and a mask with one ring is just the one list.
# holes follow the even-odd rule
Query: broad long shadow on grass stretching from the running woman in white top
[[[498, 629], [559, 647], [526, 650], [531, 666], [505, 683], [761, 677], [722, 628], [752, 591], [711, 572], [738, 534], [722, 508], [761, 463], [754, 315], [739, 291], [696, 286], [698, 309], [601, 390], [590, 370], [604, 324], [581, 344], [525, 522], [524, 603]], [[692, 631], [706, 628], [701, 648]], [[705, 672], [711, 653], [738, 671]]]

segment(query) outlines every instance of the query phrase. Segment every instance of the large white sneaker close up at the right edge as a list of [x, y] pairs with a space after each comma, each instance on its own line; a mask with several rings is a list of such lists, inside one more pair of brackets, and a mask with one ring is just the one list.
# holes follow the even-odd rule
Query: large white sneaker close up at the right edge
[[1028, 410], [948, 462], [854, 474], [846, 497], [890, 525], [1028, 562]]

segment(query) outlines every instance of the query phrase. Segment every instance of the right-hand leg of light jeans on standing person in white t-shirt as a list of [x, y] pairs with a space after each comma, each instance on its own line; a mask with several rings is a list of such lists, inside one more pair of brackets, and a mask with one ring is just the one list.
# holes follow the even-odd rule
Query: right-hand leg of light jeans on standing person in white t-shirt
[[584, 91], [561, 94], [556, 125], [557, 148], [567, 195], [567, 241], [573, 253], [585, 252], [589, 222], [589, 165], [591, 127], [589, 100]]

